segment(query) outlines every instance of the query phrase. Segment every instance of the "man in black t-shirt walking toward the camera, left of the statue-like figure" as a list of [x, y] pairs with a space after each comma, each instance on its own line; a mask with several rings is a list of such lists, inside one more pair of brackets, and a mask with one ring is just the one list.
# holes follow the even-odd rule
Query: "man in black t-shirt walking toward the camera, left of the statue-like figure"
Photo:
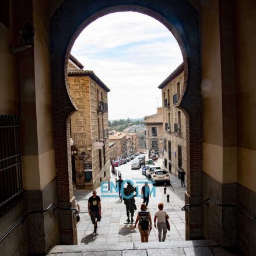
[[92, 197], [88, 199], [88, 213], [94, 226], [94, 233], [96, 233], [98, 228], [97, 223], [101, 220], [101, 202], [96, 190], [93, 190]]

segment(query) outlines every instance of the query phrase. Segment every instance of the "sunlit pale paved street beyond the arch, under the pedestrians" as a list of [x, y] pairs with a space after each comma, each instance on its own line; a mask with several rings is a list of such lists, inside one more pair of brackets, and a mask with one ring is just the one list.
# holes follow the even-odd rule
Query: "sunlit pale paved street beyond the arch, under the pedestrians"
[[[121, 172], [122, 179], [130, 179], [134, 182], [135, 185], [139, 186], [139, 191], [143, 181], [148, 181], [148, 179], [142, 175], [140, 170], [131, 170], [131, 162], [117, 167], [117, 170]], [[162, 159], [156, 163], [156, 165], [162, 166]], [[115, 177], [111, 177], [111, 181], [115, 184]], [[176, 177], [171, 177], [171, 181], [178, 185]], [[140, 184], [138, 184], [138, 182]], [[149, 187], [152, 188], [152, 185], [149, 184]], [[164, 186], [157, 185], [156, 187], [156, 197], [152, 197], [149, 200], [149, 211], [152, 216], [155, 215], [157, 211], [157, 204], [159, 202], [164, 202], [164, 209], [170, 216], [170, 232], [167, 232], [166, 241], [184, 241], [185, 240], [185, 215], [181, 211], [181, 207], [184, 205], [182, 198], [178, 197], [178, 194], [182, 194], [181, 189], [178, 188], [178, 194], [174, 189], [168, 185], [166, 194], [170, 195], [170, 202], [167, 202], [166, 195], [164, 194]], [[107, 190], [107, 184], [106, 184]], [[111, 195], [113, 197], [104, 197], [109, 195], [105, 191], [101, 191], [100, 188], [97, 188], [97, 195], [101, 197], [101, 212], [102, 219], [98, 224], [97, 233], [93, 233], [93, 224], [90, 220], [90, 216], [87, 213], [87, 201], [88, 198], [92, 195], [92, 191], [75, 191], [76, 199], [80, 205], [80, 222], [78, 223], [78, 244], [95, 244], [95, 243], [120, 243], [120, 242], [138, 242], [141, 241], [138, 226], [136, 229], [132, 229], [132, 224], [126, 223], [126, 210], [124, 202], [120, 201], [118, 198], [118, 193], [113, 192]], [[103, 193], [104, 192], [104, 193]], [[184, 194], [184, 193], [183, 193]], [[136, 197], [136, 206], [139, 209], [139, 206], [143, 202], [141, 197]], [[135, 219], [138, 210], [135, 212]], [[158, 241], [158, 232], [155, 227], [152, 228], [149, 236], [149, 241]]]

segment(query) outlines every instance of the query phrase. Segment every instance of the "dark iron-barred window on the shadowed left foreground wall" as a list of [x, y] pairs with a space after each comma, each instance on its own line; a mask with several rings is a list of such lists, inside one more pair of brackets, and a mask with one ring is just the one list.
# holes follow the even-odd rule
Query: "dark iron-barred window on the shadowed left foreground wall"
[[0, 215], [15, 206], [23, 192], [18, 115], [0, 115]]

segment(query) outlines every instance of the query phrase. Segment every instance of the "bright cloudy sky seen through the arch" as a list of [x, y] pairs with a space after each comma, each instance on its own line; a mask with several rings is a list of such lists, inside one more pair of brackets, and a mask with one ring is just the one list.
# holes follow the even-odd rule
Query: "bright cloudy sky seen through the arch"
[[109, 120], [155, 114], [162, 106], [157, 87], [183, 61], [171, 32], [136, 12], [95, 20], [80, 33], [71, 54], [110, 89]]

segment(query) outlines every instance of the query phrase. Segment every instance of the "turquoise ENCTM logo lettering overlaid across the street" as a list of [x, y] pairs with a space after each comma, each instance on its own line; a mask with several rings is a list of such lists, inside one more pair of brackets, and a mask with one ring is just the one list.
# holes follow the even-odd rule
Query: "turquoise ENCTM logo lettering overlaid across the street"
[[148, 197], [149, 195], [156, 197], [156, 187], [153, 186], [155, 184], [155, 181], [141, 181], [141, 180], [124, 180], [122, 182], [121, 187], [119, 187], [118, 182], [117, 185], [113, 183], [113, 181], [110, 181], [110, 190], [108, 190], [108, 181], [101, 181], [100, 183], [100, 192], [101, 192], [101, 197], [113, 197], [113, 198], [118, 198], [119, 195], [113, 195], [113, 193], [118, 193], [119, 190], [121, 191], [122, 198], [125, 199], [131, 199], [134, 197], [134, 194], [130, 195], [125, 195], [124, 194], [124, 185], [127, 183], [130, 183], [133, 187], [136, 188], [136, 196], [141, 197], [141, 191], [139, 190], [139, 184], [145, 184], [148, 183], [148, 185], [152, 184], [152, 187], [150, 188], [149, 186], [145, 186], [145, 197]]

